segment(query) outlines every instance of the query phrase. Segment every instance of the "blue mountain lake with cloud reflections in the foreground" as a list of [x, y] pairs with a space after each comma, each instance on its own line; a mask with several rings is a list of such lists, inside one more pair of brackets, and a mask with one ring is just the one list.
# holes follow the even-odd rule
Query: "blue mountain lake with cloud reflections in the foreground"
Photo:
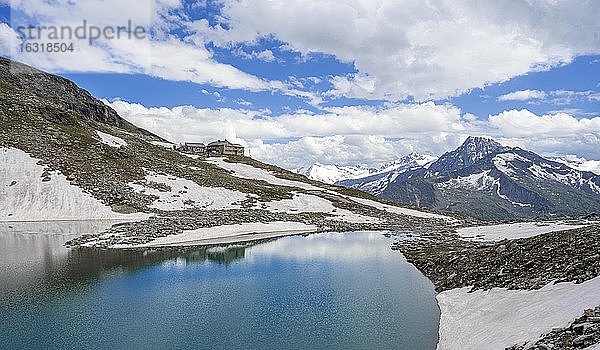
[[165, 252], [0, 227], [4, 349], [434, 349], [432, 284], [380, 233]]

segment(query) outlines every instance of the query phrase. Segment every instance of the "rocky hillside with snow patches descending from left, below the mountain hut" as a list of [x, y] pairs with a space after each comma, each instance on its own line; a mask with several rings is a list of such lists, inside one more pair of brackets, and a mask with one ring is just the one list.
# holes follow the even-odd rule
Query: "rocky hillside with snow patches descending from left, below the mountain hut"
[[310, 232], [456, 224], [250, 158], [176, 152], [72, 82], [4, 58], [0, 124], [0, 189], [10, 199], [0, 220], [142, 220], [74, 245], [135, 245], [252, 222]]

